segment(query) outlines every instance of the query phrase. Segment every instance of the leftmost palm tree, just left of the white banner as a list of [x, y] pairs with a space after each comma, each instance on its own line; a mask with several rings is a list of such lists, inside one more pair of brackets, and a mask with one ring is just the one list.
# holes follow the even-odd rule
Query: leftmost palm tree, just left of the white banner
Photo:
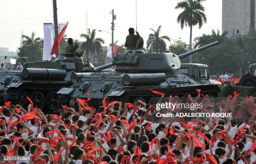
[[23, 46], [18, 48], [19, 57], [28, 57], [28, 61], [41, 61], [43, 58], [43, 39], [35, 37], [35, 33], [32, 32], [31, 36], [23, 35], [25, 38]]

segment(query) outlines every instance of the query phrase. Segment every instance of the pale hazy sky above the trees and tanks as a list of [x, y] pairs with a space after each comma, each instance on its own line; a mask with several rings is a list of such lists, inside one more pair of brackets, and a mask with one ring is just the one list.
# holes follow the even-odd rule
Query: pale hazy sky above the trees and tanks
[[[137, 0], [137, 30], [144, 42], [151, 32], [149, 29], [156, 30], [159, 25], [162, 25], [161, 35], [173, 39], [181, 37], [181, 40], [189, 42], [189, 28], [181, 30], [176, 21], [182, 11], [174, 9], [177, 2], [179, 0]], [[84, 41], [79, 35], [86, 33], [86, 10], [88, 28], [111, 33], [110, 11], [114, 9], [117, 16], [114, 40], [121, 45], [128, 35], [128, 28], [136, 29], [135, 4], [136, 0], [57, 0], [58, 22], [69, 22], [65, 32], [67, 37]], [[221, 30], [222, 0], [207, 0], [203, 5], [208, 21], [200, 30], [193, 27], [193, 38], [210, 33], [212, 29]], [[5, 0], [1, 2], [0, 15], [0, 47], [15, 51], [20, 45], [21, 30], [25, 35], [34, 31], [36, 37], [44, 37], [43, 23], [53, 22], [52, 0]], [[19, 20], [34, 17], [43, 18]], [[111, 35], [106, 32], [97, 32], [96, 36], [105, 40], [104, 45], [111, 42]]]

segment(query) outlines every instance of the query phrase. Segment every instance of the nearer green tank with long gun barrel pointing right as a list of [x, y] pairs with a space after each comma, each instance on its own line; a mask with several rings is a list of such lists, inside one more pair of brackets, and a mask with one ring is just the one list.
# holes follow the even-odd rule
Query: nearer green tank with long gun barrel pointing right
[[116, 55], [112, 63], [96, 68], [104, 70], [115, 66], [114, 72], [73, 73], [71, 80], [74, 84], [57, 92], [58, 102], [76, 107], [76, 98], [87, 99], [87, 93], [90, 93], [92, 107], [98, 107], [105, 96], [109, 102], [135, 102], [141, 99], [152, 104], [159, 97], [150, 89], [163, 92], [166, 96], [195, 96], [196, 89], [201, 89], [202, 94], [217, 97], [220, 92], [218, 85], [202, 84], [187, 74], [178, 74], [177, 70], [181, 66], [180, 59], [218, 43], [214, 42], [179, 56], [173, 53], [147, 53], [144, 48], [126, 49], [125, 53]]

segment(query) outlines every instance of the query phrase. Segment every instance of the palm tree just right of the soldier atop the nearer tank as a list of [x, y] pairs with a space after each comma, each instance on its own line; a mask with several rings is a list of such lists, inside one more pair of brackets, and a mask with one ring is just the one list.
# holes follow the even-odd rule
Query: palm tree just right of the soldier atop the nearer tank
[[164, 52], [166, 50], [166, 42], [164, 40], [167, 40], [170, 42], [170, 38], [168, 36], [161, 36], [160, 37], [160, 32], [161, 32], [161, 25], [158, 26], [157, 30], [155, 31], [154, 29], [150, 29], [153, 31], [153, 33], [148, 35], [148, 40], [147, 40], [147, 49], [150, 47], [151, 49], [151, 40], [153, 42], [153, 49], [156, 52]]

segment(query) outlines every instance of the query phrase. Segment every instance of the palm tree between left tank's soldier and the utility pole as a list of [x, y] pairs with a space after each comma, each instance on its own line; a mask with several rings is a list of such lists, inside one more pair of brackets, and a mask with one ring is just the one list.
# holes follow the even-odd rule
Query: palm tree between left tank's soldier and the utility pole
[[81, 34], [80, 37], [86, 38], [86, 41], [81, 44], [80, 49], [83, 50], [85, 54], [89, 53], [90, 59], [92, 60], [91, 62], [95, 62], [94, 56], [100, 54], [102, 44], [104, 44], [105, 41], [101, 37], [96, 37], [96, 29], [93, 29], [92, 32], [90, 32], [89, 29], [88, 35]]

